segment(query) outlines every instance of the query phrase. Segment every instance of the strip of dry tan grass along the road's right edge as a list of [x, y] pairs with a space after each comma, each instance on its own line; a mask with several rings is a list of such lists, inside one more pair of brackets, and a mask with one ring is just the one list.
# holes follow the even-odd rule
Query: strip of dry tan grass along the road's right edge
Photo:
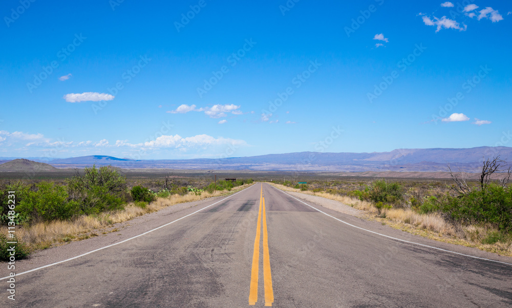
[[300, 189], [290, 188], [280, 184], [271, 185], [286, 191], [300, 192], [339, 201], [353, 208], [363, 210], [367, 212], [367, 217], [370, 219], [379, 221], [395, 229], [436, 239], [445, 243], [475, 247], [501, 255], [512, 256], [512, 243], [509, 240], [497, 241], [495, 244], [484, 244], [485, 239], [488, 238], [490, 234], [498, 232], [494, 227], [453, 225], [446, 222], [445, 219], [437, 213], [420, 214], [407, 208], [383, 209], [379, 214], [377, 208], [370, 202], [360, 201], [353, 197], [327, 192], [301, 191]]

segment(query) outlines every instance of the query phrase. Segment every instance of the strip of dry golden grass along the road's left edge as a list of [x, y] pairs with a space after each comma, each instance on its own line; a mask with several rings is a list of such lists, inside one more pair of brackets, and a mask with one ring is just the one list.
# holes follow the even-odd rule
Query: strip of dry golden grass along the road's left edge
[[[142, 208], [130, 203], [123, 210], [114, 212], [104, 212], [98, 215], [83, 215], [75, 218], [73, 221], [53, 221], [50, 223], [37, 223], [27, 228], [16, 230], [16, 236], [19, 241], [26, 243], [31, 250], [46, 249], [54, 244], [65, 243], [71, 240], [86, 239], [91, 236], [98, 236], [94, 231], [106, 228], [116, 223], [126, 222], [135, 217], [156, 212], [163, 208], [173, 206], [179, 203], [199, 201], [209, 197], [228, 195], [240, 191], [252, 184], [244, 184], [233, 188], [230, 192], [216, 191], [209, 193], [203, 191], [201, 195], [186, 194], [172, 195], [166, 198], [158, 198], [155, 202]], [[119, 231], [118, 229], [106, 230], [109, 232]], [[4, 227], [0, 232], [7, 234], [7, 228]], [[106, 234], [107, 232], [102, 232]]]

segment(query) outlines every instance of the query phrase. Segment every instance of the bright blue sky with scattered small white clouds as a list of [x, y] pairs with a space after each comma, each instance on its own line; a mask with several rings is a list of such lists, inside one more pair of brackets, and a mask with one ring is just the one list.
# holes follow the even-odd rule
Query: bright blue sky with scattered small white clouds
[[4, 1], [0, 156], [510, 146], [511, 11], [487, 0]]

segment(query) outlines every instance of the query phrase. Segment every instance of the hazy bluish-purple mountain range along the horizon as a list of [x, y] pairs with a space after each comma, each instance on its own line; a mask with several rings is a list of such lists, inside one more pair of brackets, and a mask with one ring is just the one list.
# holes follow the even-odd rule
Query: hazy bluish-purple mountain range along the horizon
[[[125, 169], [169, 168], [202, 170], [282, 170], [282, 171], [446, 171], [478, 172], [487, 158], [500, 155], [512, 162], [512, 147], [396, 149], [373, 153], [297, 152], [225, 159], [131, 160], [111, 156], [83, 156], [45, 160], [56, 168], [83, 168], [112, 165]], [[0, 158], [0, 161], [8, 160]], [[2, 166], [2, 165], [0, 165]]]

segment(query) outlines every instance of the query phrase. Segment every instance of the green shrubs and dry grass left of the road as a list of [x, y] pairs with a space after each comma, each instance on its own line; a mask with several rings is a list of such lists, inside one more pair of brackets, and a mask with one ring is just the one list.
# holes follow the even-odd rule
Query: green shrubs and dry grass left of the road
[[[94, 230], [158, 211], [178, 203], [220, 196], [252, 179], [217, 181], [197, 187], [188, 180], [148, 181], [145, 187], [129, 181], [112, 167], [85, 168], [64, 181], [0, 182], [0, 249], [6, 252], [8, 224], [14, 222], [16, 259], [56, 243], [97, 236]], [[205, 183], [206, 182], [206, 183]], [[15, 191], [14, 215], [9, 214], [9, 191]], [[112, 231], [112, 230], [110, 230]], [[105, 231], [106, 232], [106, 231]], [[4, 249], [6, 248], [6, 249]], [[0, 254], [0, 260], [8, 256]]]

